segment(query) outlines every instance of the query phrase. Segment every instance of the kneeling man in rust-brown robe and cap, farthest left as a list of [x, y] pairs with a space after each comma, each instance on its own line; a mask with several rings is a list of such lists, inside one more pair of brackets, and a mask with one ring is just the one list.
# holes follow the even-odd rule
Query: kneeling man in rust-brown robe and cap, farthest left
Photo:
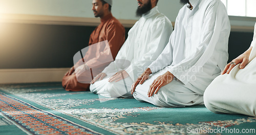
[[[77, 63], [84, 61], [86, 67], [93, 67], [100, 58], [108, 57], [112, 54], [115, 59], [119, 49], [125, 41], [125, 30], [121, 23], [112, 16], [111, 7], [112, 0], [93, 0], [92, 10], [95, 17], [100, 17], [100, 25], [92, 32], [89, 41], [89, 50], [83, 59], [80, 59]], [[90, 47], [92, 44], [108, 40], [109, 46]], [[110, 62], [110, 61], [106, 61]], [[94, 65], [93, 65], [94, 64]], [[98, 68], [94, 68], [94, 74], [97, 75], [108, 66], [109, 63], [99, 65]], [[80, 78], [82, 81], [77, 81], [75, 74], [75, 67], [73, 66], [63, 77], [62, 86], [66, 91], [90, 91], [90, 82], [92, 80], [92, 74], [90, 70], [87, 70]], [[88, 82], [88, 83], [80, 83]]]

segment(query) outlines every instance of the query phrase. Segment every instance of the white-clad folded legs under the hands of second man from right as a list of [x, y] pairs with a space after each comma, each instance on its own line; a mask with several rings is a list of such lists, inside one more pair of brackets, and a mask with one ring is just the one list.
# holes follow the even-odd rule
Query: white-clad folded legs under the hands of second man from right
[[147, 96], [148, 89], [153, 81], [160, 75], [163, 75], [166, 70], [162, 70], [150, 79], [145, 81], [142, 85], [138, 85], [134, 92], [134, 98], [138, 101], [145, 101], [160, 107], [178, 107], [191, 106], [196, 104], [203, 104], [203, 95], [197, 94], [193, 89], [196, 89], [191, 84], [184, 85], [179, 80], [173, 80], [167, 85], [160, 88], [157, 94], [152, 97]]

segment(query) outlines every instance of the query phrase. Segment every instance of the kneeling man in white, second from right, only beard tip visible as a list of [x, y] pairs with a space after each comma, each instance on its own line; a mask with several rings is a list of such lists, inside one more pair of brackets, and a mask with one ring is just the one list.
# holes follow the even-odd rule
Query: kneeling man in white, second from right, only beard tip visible
[[132, 86], [138, 101], [161, 107], [203, 104], [206, 87], [224, 70], [230, 33], [225, 6], [220, 0], [181, 3], [186, 5], [167, 46]]

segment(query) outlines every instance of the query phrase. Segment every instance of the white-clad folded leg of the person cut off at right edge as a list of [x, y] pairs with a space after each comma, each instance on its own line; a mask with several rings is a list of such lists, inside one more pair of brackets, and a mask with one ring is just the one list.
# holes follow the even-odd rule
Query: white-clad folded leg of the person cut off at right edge
[[205, 106], [214, 113], [256, 116], [255, 84], [226, 83], [225, 77], [219, 76], [207, 87]]

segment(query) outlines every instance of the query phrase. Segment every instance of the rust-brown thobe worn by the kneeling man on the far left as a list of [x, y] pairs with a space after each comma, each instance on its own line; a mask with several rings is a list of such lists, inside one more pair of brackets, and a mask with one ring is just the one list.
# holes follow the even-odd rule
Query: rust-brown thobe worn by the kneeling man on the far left
[[[113, 56], [113, 59], [115, 59], [119, 49], [125, 41], [124, 27], [115, 17], [112, 16], [112, 14], [106, 15], [105, 17], [101, 18], [100, 21], [100, 25], [95, 28], [90, 36], [89, 50], [83, 57], [86, 65], [88, 65], [89, 67], [95, 67], [94, 76], [101, 73], [104, 67], [108, 66], [108, 64], [110, 63], [109, 61], [106, 61], [108, 63], [97, 66], [97, 61], [102, 62], [102, 58], [110, 55], [110, 52]], [[92, 44], [105, 40], [109, 41], [110, 50], [107, 48], [103, 48], [102, 46], [98, 48], [90, 48]], [[82, 59], [78, 62], [81, 61]], [[90, 70], [87, 70], [86, 72], [82, 73], [79, 78], [81, 78], [84, 82], [90, 82], [92, 80], [92, 74]], [[66, 91], [89, 91], [90, 84], [80, 83], [81, 79], [79, 79], [78, 82], [75, 74], [64, 76], [62, 79], [62, 86], [66, 89]]]

